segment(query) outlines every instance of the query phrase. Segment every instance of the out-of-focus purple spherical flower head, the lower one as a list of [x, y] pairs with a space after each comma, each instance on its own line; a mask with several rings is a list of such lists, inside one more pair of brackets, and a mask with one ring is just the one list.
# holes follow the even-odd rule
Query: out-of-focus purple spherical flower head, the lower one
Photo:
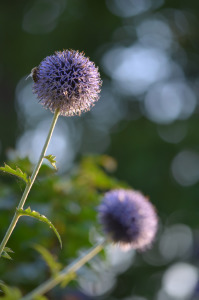
[[158, 218], [154, 206], [140, 192], [112, 190], [98, 206], [103, 231], [124, 249], [144, 250], [157, 231]]

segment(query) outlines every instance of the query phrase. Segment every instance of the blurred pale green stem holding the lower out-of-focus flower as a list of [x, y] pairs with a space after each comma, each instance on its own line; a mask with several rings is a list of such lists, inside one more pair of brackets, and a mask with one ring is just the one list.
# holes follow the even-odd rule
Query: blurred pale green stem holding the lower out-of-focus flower
[[56, 277], [50, 278], [49, 280], [38, 286], [35, 290], [21, 298], [21, 300], [32, 300], [35, 299], [36, 296], [45, 294], [46, 292], [54, 288], [57, 284], [61, 283], [67, 275], [69, 282], [71, 278], [69, 275], [79, 270], [85, 263], [91, 260], [96, 254], [98, 254], [103, 249], [103, 247], [104, 242], [91, 248], [83, 257], [78, 258], [76, 261], [59, 272]]

